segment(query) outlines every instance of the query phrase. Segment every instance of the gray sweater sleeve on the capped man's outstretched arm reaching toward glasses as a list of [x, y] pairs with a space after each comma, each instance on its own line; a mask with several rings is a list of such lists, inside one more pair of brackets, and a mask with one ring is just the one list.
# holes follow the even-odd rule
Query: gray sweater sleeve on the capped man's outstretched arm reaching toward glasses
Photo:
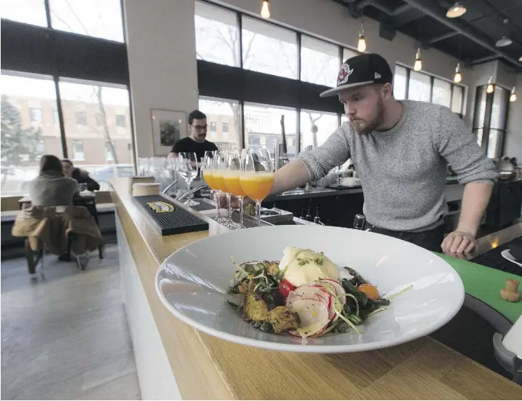
[[332, 168], [343, 165], [350, 158], [348, 132], [351, 129], [350, 125], [341, 125], [320, 147], [299, 154], [298, 159], [308, 169], [310, 181], [324, 177]]

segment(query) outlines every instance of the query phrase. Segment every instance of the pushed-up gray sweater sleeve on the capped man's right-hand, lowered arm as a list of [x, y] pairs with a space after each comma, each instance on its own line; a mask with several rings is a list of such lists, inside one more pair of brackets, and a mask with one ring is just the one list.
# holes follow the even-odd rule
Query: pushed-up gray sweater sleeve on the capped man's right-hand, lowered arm
[[447, 107], [441, 107], [439, 118], [434, 145], [457, 173], [458, 182], [484, 182], [493, 185], [497, 179], [495, 165], [483, 154], [476, 143], [476, 137], [469, 132], [464, 121]]

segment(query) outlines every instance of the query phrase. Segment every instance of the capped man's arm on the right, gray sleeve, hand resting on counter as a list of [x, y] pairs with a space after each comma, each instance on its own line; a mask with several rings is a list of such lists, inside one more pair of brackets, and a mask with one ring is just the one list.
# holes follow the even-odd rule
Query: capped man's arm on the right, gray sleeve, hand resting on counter
[[441, 248], [450, 254], [469, 252], [475, 246], [476, 233], [488, 206], [497, 172], [458, 116], [442, 108], [440, 118], [437, 149], [457, 173], [460, 184], [465, 185], [458, 227], [444, 239]]

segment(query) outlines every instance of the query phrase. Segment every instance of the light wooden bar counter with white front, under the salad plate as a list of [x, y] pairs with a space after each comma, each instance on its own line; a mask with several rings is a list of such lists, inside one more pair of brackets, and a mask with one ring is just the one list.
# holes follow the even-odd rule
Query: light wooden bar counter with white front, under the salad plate
[[[125, 308], [143, 399], [522, 399], [522, 387], [430, 337], [380, 351], [336, 355], [240, 346], [185, 325], [156, 295], [172, 252], [226, 231], [160, 236], [116, 179]], [[485, 351], [486, 352], [486, 351]]]

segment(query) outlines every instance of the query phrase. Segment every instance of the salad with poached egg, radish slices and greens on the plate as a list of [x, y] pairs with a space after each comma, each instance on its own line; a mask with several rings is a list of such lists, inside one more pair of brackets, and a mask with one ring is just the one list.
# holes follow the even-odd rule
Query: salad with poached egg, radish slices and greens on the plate
[[[233, 263], [235, 261], [232, 259]], [[286, 247], [280, 261], [247, 261], [228, 287], [228, 304], [256, 329], [294, 337], [345, 333], [390, 304], [357, 271], [322, 252]]]

